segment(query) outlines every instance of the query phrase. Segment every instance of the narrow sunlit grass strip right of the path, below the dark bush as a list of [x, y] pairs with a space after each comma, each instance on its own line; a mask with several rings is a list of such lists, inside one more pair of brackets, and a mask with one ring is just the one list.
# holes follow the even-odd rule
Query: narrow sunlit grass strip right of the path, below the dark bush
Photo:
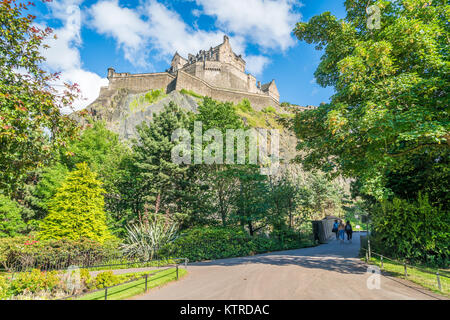
[[[381, 258], [378, 256], [372, 256], [369, 263], [377, 265], [378, 267], [381, 268]], [[403, 264], [387, 260], [386, 258], [383, 259], [382, 271], [387, 271], [395, 277], [407, 279], [409, 281], [417, 283], [425, 288], [432, 290], [433, 292], [450, 296], [450, 278], [443, 276], [443, 275], [450, 276], [450, 272], [439, 271], [441, 274], [440, 280], [442, 287], [442, 291], [439, 291], [436, 279], [436, 269], [432, 268], [421, 268], [421, 269], [432, 273], [427, 273], [422, 270], [407, 266], [408, 277], [405, 278], [405, 269]]]

